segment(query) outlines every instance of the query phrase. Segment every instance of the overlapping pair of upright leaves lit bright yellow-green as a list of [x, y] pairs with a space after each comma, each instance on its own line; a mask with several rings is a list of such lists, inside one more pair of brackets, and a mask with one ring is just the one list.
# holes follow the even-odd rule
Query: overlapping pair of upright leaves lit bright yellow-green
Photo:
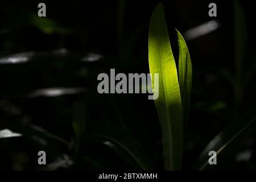
[[[191, 94], [191, 60], [183, 37], [178, 31], [177, 35], [180, 49], [180, 82], [164, 18], [163, 5], [159, 4], [150, 20], [148, 61], [150, 73], [152, 75], [159, 74], [159, 97], [155, 100], [155, 105], [162, 127], [163, 157], [166, 170], [181, 169], [183, 128], [188, 119]], [[154, 77], [152, 77], [152, 86], [154, 86]]]

